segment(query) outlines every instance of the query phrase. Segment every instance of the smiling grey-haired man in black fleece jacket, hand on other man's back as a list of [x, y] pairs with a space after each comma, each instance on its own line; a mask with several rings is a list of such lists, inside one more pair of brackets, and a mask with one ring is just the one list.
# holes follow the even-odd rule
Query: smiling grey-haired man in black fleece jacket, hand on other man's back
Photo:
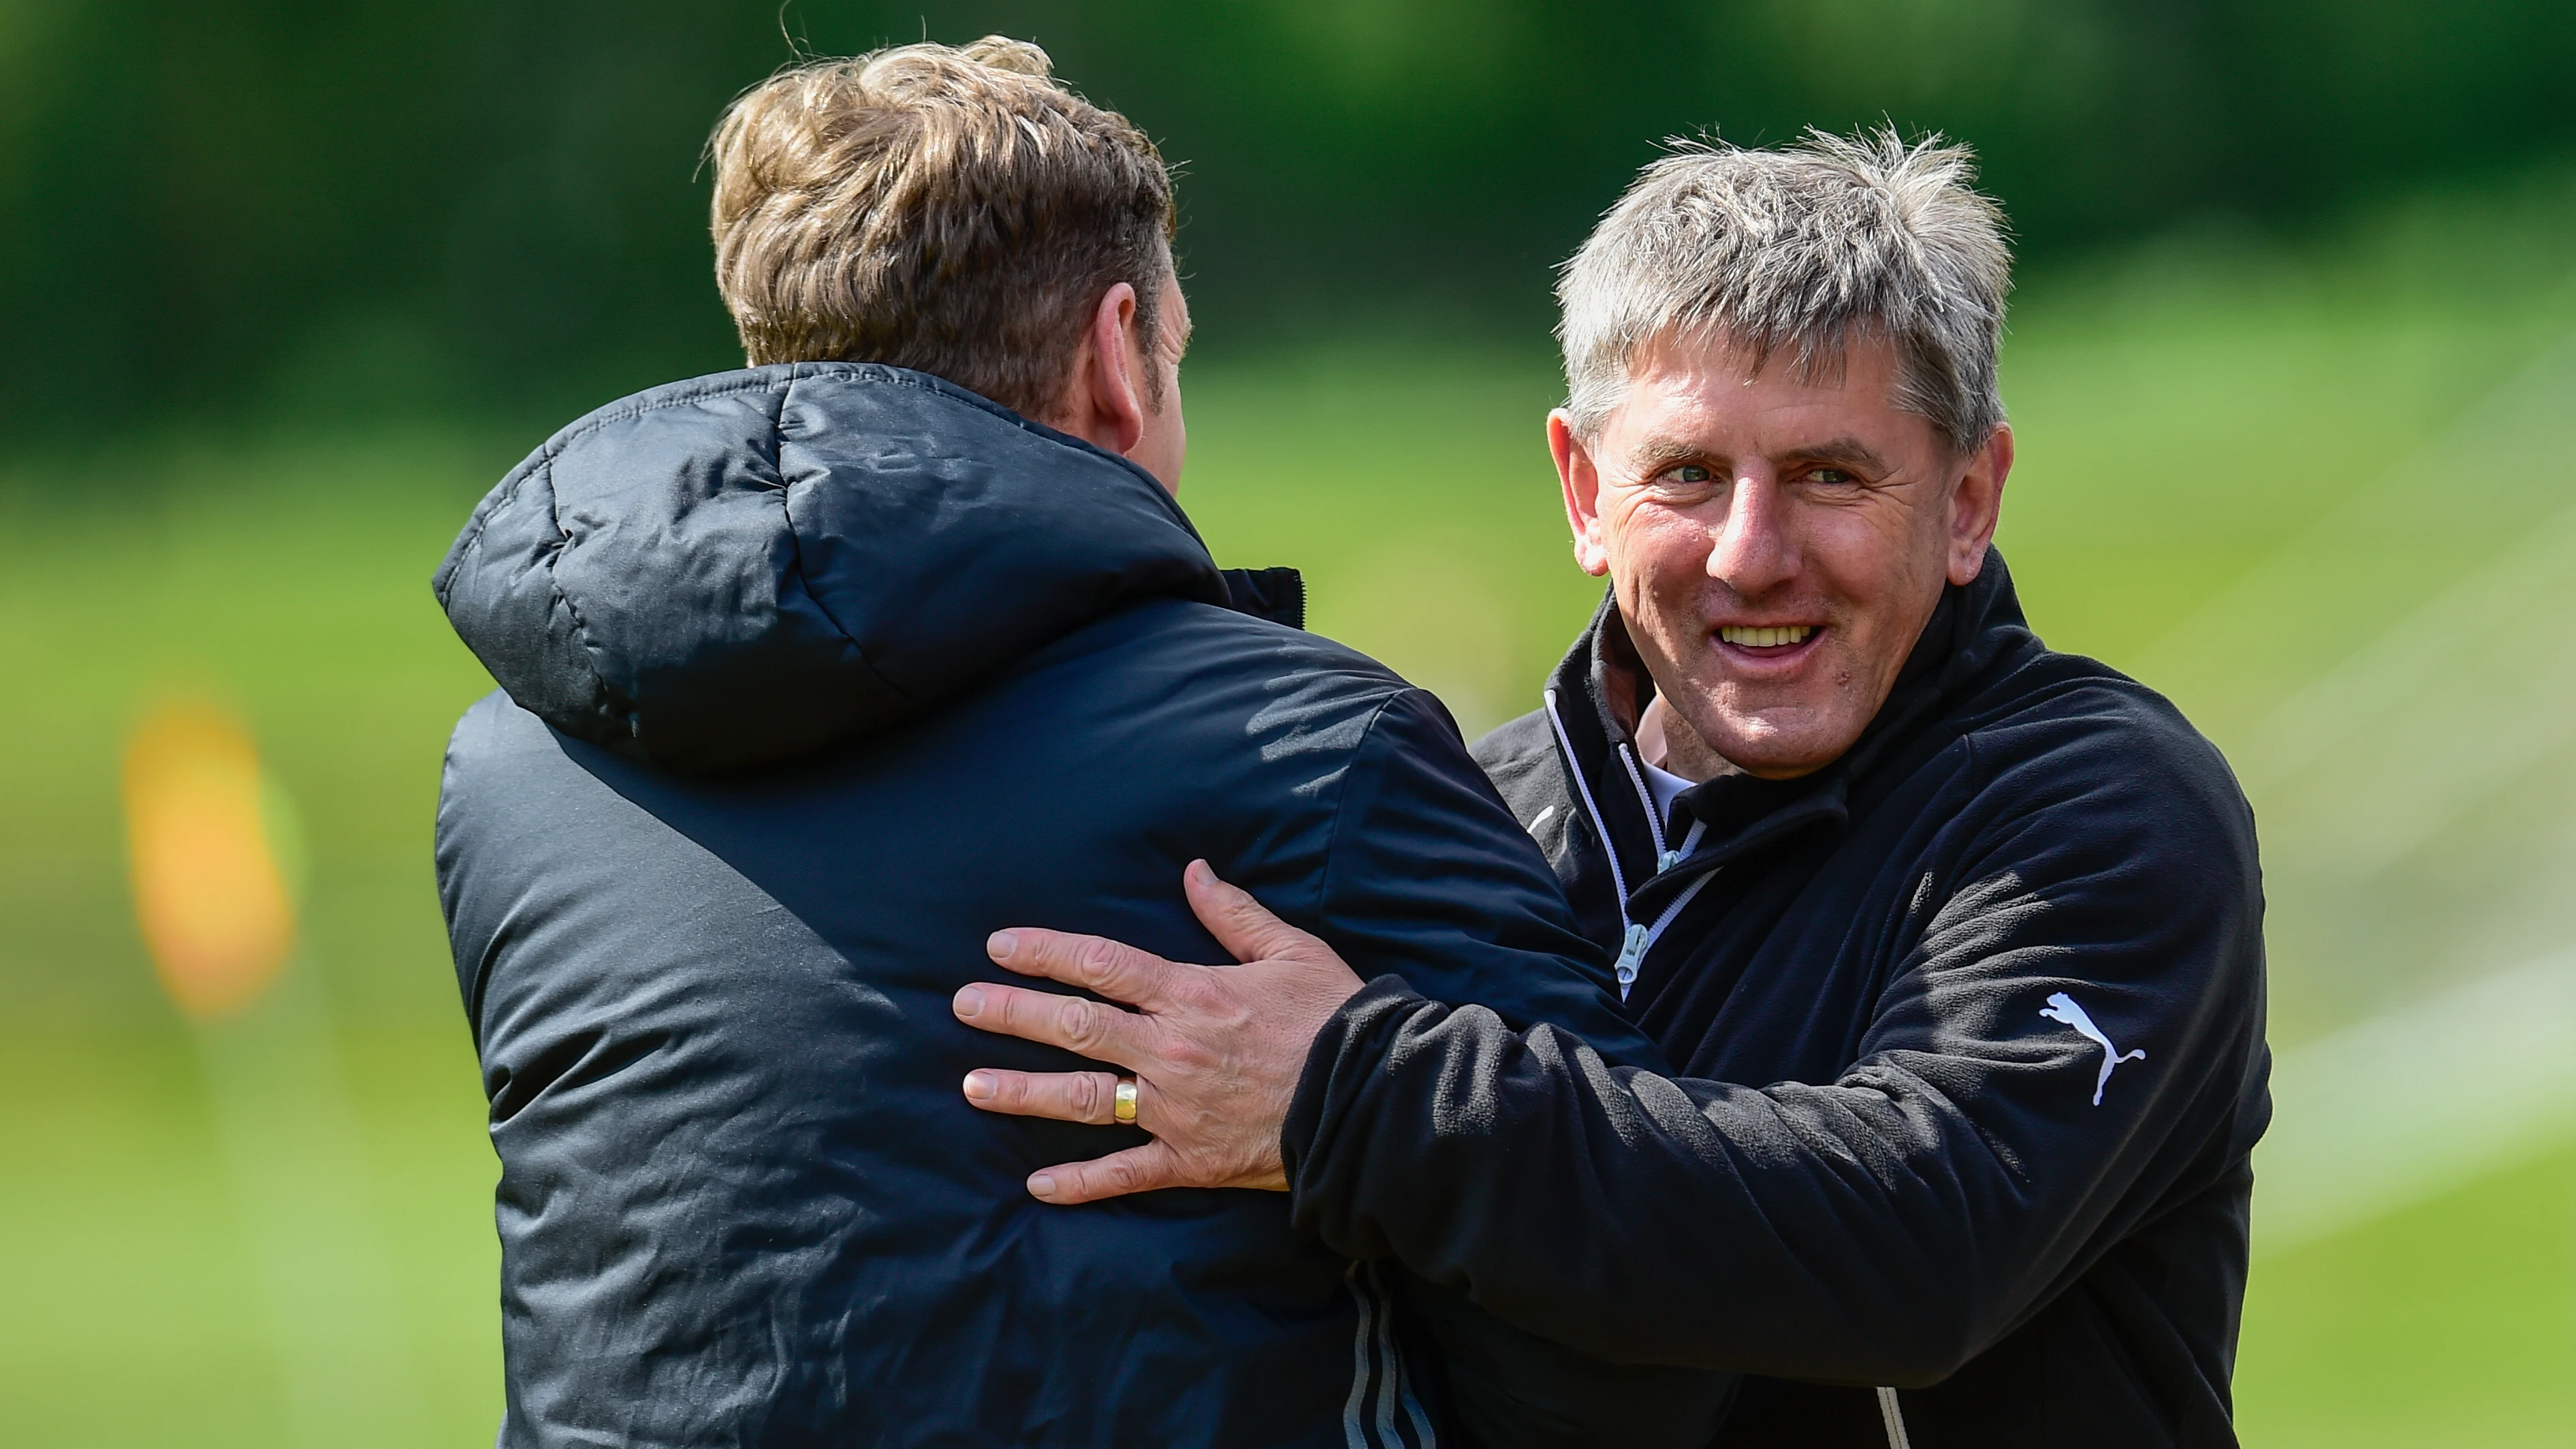
[[[997, 963], [1144, 1011], [958, 996], [1141, 1078], [1157, 1140], [1030, 1192], [1280, 1174], [1352, 1259], [1749, 1374], [1728, 1449], [2233, 1444], [2254, 821], [2172, 705], [2022, 623], [2007, 265], [1965, 152], [1893, 134], [1682, 149], [1566, 265], [1548, 443], [1610, 592], [1476, 759], [1682, 1076], [1363, 986], [1193, 865], [1249, 965], [1012, 927]], [[966, 1084], [1077, 1122], [1092, 1089]]]

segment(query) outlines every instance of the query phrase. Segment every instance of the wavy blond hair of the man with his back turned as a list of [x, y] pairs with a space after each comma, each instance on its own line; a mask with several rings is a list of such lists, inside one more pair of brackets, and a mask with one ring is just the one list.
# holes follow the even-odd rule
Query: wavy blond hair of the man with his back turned
[[984, 36], [811, 62], [737, 98], [708, 149], [716, 288], [750, 363], [894, 363], [1041, 417], [1121, 281], [1151, 353], [1172, 178], [1051, 69]]

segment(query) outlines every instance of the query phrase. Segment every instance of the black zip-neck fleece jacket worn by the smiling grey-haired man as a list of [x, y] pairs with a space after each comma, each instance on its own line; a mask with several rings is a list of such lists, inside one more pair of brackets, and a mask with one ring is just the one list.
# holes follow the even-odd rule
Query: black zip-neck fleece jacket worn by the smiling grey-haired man
[[1680, 1073], [1381, 978], [1298, 1086], [1298, 1225], [1610, 1359], [1752, 1374], [1726, 1446], [1886, 1444], [1873, 1385], [1922, 1449], [2233, 1444], [2269, 1055], [2218, 752], [2043, 649], [1994, 553], [1816, 775], [1651, 821], [1649, 697], [1605, 602], [1476, 757], [1602, 947], [1708, 878], [1628, 999]]

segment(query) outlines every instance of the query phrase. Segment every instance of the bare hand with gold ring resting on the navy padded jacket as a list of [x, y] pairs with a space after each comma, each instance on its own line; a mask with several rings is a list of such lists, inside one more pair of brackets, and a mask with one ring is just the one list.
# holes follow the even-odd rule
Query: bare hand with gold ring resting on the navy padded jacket
[[[1190, 911], [1242, 965], [1182, 965], [1105, 937], [1012, 927], [984, 942], [997, 965], [1126, 1001], [974, 983], [961, 1022], [1082, 1053], [1136, 1073], [1141, 1148], [1030, 1174], [1028, 1192], [1074, 1204], [1159, 1186], [1285, 1189], [1280, 1125], [1306, 1050], [1360, 978], [1316, 937], [1280, 921], [1206, 860], [1182, 872]], [[1113, 1122], [1105, 1071], [966, 1073], [966, 1102], [1015, 1117]]]

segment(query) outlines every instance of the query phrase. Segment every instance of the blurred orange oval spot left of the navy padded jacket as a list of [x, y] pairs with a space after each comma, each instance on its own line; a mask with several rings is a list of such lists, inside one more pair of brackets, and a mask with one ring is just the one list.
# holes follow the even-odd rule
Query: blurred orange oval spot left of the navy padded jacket
[[162, 986], [198, 1019], [255, 1001], [296, 945], [263, 806], [258, 746], [211, 705], [162, 705], [126, 741], [134, 914]]

